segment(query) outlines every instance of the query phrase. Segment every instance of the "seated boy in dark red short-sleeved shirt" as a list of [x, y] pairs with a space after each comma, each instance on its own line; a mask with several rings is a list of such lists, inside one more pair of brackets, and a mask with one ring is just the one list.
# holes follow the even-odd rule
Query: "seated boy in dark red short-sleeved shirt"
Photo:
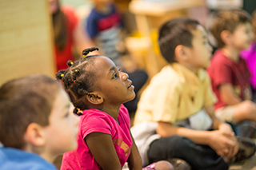
[[218, 97], [215, 115], [236, 125], [256, 122], [256, 105], [250, 101], [250, 72], [240, 52], [250, 46], [253, 33], [250, 15], [244, 10], [220, 10], [210, 28], [219, 48], [210, 62], [208, 73]]

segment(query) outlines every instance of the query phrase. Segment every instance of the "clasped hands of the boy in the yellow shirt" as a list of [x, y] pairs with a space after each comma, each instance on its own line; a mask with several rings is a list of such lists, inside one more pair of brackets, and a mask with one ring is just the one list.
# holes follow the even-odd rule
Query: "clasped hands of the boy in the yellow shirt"
[[231, 134], [223, 134], [219, 130], [210, 132], [210, 148], [213, 148], [219, 156], [231, 156], [238, 152], [236, 148], [237, 141]]

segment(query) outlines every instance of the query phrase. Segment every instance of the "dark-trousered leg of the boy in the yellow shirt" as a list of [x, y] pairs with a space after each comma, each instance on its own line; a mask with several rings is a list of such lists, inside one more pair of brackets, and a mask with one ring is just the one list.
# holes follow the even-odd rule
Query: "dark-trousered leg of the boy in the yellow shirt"
[[[150, 144], [147, 154], [150, 163], [169, 158], [179, 158], [190, 164], [192, 169], [228, 169], [229, 165], [206, 145], [194, 144], [182, 136], [163, 137]], [[175, 168], [175, 167], [174, 167]]]

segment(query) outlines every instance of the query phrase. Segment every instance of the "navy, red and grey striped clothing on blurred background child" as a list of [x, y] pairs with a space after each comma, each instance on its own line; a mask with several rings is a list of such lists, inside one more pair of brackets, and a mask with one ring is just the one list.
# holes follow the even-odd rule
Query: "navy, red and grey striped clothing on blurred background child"
[[122, 42], [122, 18], [114, 5], [110, 6], [108, 14], [92, 10], [87, 18], [86, 30], [90, 38], [96, 39], [106, 57], [110, 57], [116, 65], [122, 65], [121, 53], [117, 49], [117, 44]]

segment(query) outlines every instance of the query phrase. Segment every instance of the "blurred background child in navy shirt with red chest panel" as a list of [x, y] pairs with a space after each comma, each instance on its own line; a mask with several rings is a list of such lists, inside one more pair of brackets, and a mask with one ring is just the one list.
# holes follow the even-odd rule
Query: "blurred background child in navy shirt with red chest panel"
[[[92, 2], [94, 7], [89, 17], [86, 18], [86, 32], [102, 49], [105, 56], [110, 57], [115, 65], [128, 73], [130, 80], [134, 82], [134, 92], [137, 94], [146, 83], [148, 76], [144, 70], [138, 68], [137, 63], [126, 49], [122, 15], [112, 0], [93, 0]], [[138, 97], [135, 97], [134, 100], [124, 105], [129, 113], [134, 113], [137, 104]]]

